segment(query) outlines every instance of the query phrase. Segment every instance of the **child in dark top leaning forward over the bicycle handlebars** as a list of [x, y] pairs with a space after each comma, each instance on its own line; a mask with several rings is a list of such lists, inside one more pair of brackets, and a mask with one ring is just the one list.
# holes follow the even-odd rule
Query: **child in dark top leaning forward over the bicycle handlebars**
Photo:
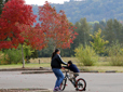
[[74, 64], [72, 64], [71, 61], [68, 61], [68, 66], [65, 66], [65, 68], [70, 69], [69, 71], [70, 80], [71, 81], [73, 80], [76, 82], [76, 77], [79, 76], [80, 73], [78, 67]]

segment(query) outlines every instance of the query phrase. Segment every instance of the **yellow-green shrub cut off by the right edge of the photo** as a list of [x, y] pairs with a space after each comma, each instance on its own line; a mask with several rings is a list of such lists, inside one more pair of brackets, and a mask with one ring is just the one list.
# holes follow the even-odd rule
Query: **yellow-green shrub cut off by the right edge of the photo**
[[123, 66], [123, 51], [120, 43], [115, 43], [108, 49], [110, 64], [112, 66]]

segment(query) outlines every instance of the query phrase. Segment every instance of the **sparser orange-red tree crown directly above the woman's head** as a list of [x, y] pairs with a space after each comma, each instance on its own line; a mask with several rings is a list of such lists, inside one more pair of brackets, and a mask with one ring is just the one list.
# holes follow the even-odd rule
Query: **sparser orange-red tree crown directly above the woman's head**
[[77, 32], [69, 23], [64, 11], [56, 12], [49, 2], [43, 6], [39, 6], [39, 21], [41, 22], [41, 30], [46, 31], [49, 41], [54, 48], [70, 48], [76, 38]]

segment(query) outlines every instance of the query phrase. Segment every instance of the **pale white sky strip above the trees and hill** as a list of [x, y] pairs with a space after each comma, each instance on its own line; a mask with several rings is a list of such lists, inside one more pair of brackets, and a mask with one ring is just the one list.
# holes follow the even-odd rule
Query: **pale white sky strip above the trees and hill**
[[64, 3], [65, 1], [69, 0], [25, 0], [27, 4], [38, 4], [43, 5], [45, 1], [52, 2], [52, 3]]

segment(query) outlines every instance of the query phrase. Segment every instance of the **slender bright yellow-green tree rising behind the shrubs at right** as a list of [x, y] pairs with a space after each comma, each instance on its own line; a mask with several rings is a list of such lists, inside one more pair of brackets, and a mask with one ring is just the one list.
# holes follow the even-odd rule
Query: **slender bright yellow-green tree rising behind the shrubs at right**
[[95, 51], [98, 54], [102, 54], [106, 50], [105, 44], [108, 43], [108, 41], [104, 40], [104, 37], [101, 37], [101, 29], [98, 29], [98, 32], [95, 32], [95, 35], [91, 35], [93, 42], [91, 41], [92, 47], [95, 49]]

